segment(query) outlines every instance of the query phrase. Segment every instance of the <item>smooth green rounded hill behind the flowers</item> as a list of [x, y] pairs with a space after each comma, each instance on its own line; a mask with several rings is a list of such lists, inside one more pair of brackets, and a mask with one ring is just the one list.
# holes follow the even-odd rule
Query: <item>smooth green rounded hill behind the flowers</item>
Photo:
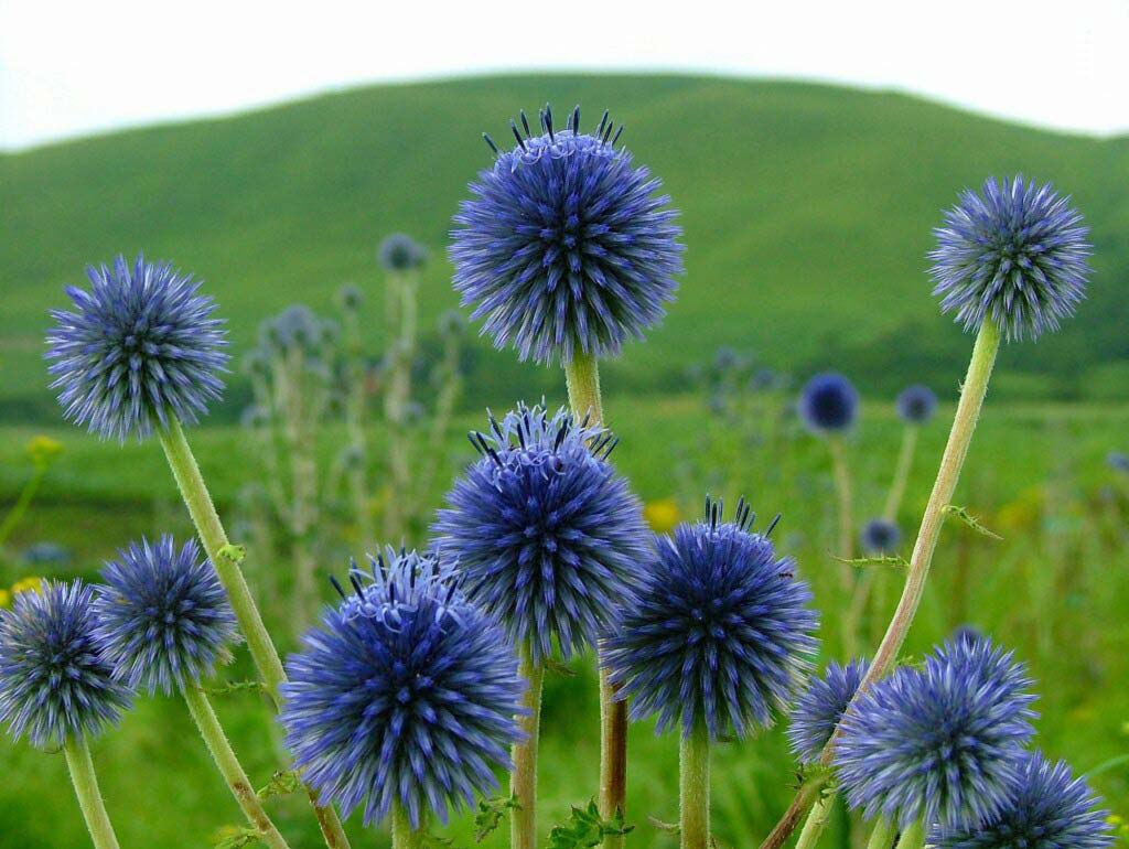
[[[1066, 331], [1005, 352], [1027, 396], [1129, 391], [1129, 140], [1009, 125], [885, 93], [706, 77], [525, 76], [380, 86], [235, 117], [133, 130], [0, 156], [0, 410], [54, 419], [45, 310], [89, 261], [145, 250], [194, 271], [237, 350], [291, 301], [327, 309], [344, 281], [375, 289], [378, 239], [408, 231], [443, 257], [480, 133], [519, 107], [607, 106], [682, 210], [679, 300], [606, 368], [615, 391], [669, 388], [723, 344], [798, 374], [834, 366], [865, 392], [955, 388], [970, 341], [937, 314], [925, 252], [939, 209], [990, 174], [1070, 192], [1093, 227], [1095, 279]], [[449, 266], [423, 320], [455, 305]], [[375, 292], [374, 292], [375, 295]], [[379, 333], [373, 297], [374, 344]], [[558, 376], [476, 349], [472, 385], [514, 397]], [[233, 375], [233, 399], [242, 377]], [[228, 404], [230, 415], [236, 401]]]

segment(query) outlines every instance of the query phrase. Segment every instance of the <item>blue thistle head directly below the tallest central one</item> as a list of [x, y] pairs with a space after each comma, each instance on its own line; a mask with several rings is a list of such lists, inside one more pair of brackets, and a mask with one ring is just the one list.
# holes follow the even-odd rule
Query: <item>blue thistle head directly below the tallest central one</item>
[[434, 532], [466, 594], [540, 663], [592, 646], [631, 594], [648, 555], [642, 505], [615, 473], [602, 428], [519, 405], [447, 494]]

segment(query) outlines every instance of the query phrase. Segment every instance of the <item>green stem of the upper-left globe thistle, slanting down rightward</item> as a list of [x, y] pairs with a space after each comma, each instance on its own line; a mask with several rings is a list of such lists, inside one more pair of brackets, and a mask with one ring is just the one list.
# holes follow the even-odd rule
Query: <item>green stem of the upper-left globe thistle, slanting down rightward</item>
[[[189, 440], [184, 437], [184, 428], [176, 419], [169, 421], [168, 428], [160, 432], [160, 445], [165, 449], [168, 465], [173, 470], [173, 476], [181, 489], [181, 496], [189, 508], [192, 522], [200, 534], [200, 541], [204, 545], [204, 551], [216, 568], [216, 575], [220, 584], [227, 592], [231, 602], [231, 610], [239, 622], [243, 636], [247, 640], [251, 656], [255, 662], [259, 674], [266, 685], [268, 695], [275, 707], [279, 704], [279, 685], [286, 681], [286, 672], [282, 669], [282, 660], [279, 659], [278, 650], [271, 641], [263, 618], [259, 614], [255, 599], [251, 595], [251, 587], [239, 570], [237, 560], [231, 555], [227, 532], [219, 520], [216, 506], [212, 504], [208, 487], [200, 474], [200, 466], [192, 455]], [[310, 803], [314, 805], [314, 813], [317, 816], [318, 825], [322, 829], [322, 837], [330, 849], [348, 849], [349, 838], [345, 837], [344, 829], [341, 828], [341, 820], [332, 807], [321, 807], [316, 803], [313, 791], [309, 791]]]

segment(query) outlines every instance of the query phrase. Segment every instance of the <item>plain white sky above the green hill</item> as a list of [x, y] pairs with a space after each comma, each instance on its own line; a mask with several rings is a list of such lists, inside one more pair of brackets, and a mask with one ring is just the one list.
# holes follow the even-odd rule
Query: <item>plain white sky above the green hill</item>
[[340, 86], [558, 68], [834, 80], [1129, 132], [1127, 45], [1129, 0], [0, 0], [0, 148]]

